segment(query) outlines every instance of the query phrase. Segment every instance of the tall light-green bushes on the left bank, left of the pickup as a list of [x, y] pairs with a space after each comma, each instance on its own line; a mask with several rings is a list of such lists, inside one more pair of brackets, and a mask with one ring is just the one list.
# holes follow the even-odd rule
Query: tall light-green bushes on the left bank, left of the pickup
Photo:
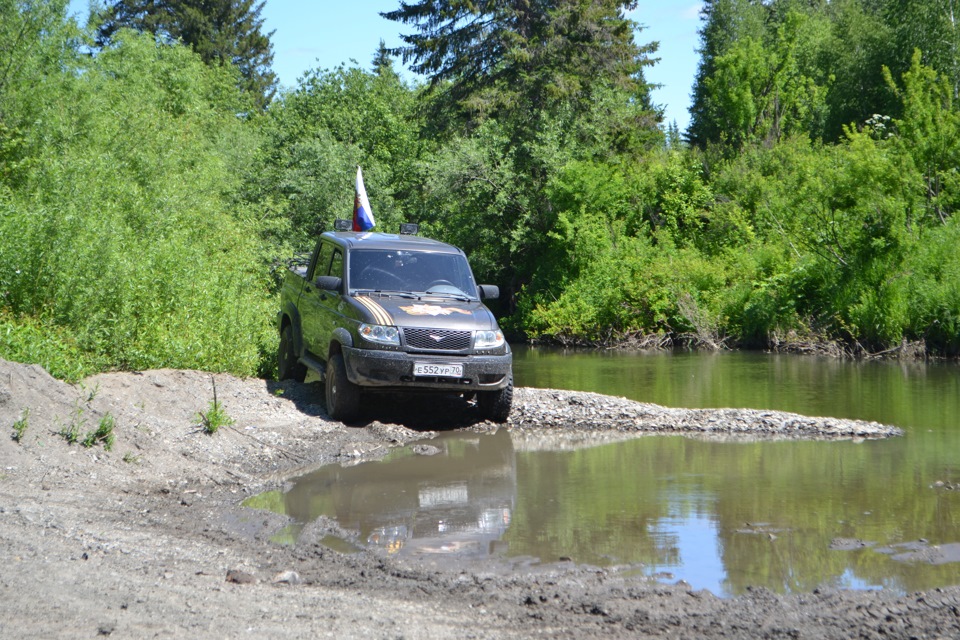
[[21, 80], [32, 102], [4, 101], [4, 122], [32, 126], [4, 162], [15, 179], [0, 190], [2, 323], [33, 330], [0, 355], [67, 377], [256, 373], [271, 304], [259, 218], [233, 195], [258, 144], [236, 118], [235, 77], [129, 31], [41, 77]]

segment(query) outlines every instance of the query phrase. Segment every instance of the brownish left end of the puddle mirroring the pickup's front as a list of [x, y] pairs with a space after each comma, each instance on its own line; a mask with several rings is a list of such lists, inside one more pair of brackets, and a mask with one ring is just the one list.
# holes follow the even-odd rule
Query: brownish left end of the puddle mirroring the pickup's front
[[510, 434], [442, 434], [436, 455], [413, 447], [380, 462], [328, 466], [295, 481], [286, 513], [355, 529], [390, 553], [489, 555], [510, 525], [516, 469]]

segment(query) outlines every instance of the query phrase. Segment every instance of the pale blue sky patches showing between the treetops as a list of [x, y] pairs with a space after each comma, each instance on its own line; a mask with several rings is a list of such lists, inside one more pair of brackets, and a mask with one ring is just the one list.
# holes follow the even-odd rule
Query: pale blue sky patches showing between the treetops
[[[70, 11], [81, 18], [87, 14], [88, 0], [71, 0]], [[356, 61], [369, 69], [382, 39], [388, 47], [402, 45], [401, 33], [409, 28], [380, 17], [391, 11], [399, 0], [266, 0], [260, 16], [263, 31], [273, 31], [273, 71], [281, 86], [295, 87], [304, 72], [333, 69], [341, 63]], [[697, 30], [702, 2], [691, 0], [639, 0], [629, 17], [644, 28], [634, 38], [638, 44], [658, 41], [660, 61], [645, 70], [648, 82], [662, 85], [653, 93], [654, 103], [665, 108], [665, 122], [676, 122], [681, 131], [690, 121], [688, 112], [693, 78], [697, 71]], [[395, 68], [407, 80], [415, 77]]]

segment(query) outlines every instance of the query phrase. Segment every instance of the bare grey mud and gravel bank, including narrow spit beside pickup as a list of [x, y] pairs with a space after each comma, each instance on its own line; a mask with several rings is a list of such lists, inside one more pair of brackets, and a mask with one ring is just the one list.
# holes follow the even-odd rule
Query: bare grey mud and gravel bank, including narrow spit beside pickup
[[[214, 388], [216, 392], [214, 392]], [[208, 434], [214, 393], [234, 422]], [[355, 425], [326, 417], [317, 384], [192, 371], [82, 385], [0, 361], [0, 636], [171, 638], [954, 637], [960, 589], [897, 596], [822, 590], [728, 600], [566, 563], [440, 570], [269, 537], [281, 516], [240, 507], [319, 464], [353, 464], [448, 428], [469, 410], [400, 402]], [[24, 413], [29, 409], [28, 413]], [[114, 442], [83, 437], [113, 419]], [[676, 410], [598, 394], [518, 389], [508, 428], [575, 437], [871, 438], [876, 423], [780, 412]]]

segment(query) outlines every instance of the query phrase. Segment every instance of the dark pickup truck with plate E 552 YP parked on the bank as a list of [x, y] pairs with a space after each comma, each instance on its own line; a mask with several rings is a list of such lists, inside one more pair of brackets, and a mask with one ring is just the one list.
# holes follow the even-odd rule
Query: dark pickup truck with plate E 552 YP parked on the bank
[[372, 392], [457, 393], [505, 422], [513, 400], [510, 345], [463, 251], [416, 235], [326, 232], [286, 273], [279, 375], [326, 382], [327, 412], [354, 418]]

